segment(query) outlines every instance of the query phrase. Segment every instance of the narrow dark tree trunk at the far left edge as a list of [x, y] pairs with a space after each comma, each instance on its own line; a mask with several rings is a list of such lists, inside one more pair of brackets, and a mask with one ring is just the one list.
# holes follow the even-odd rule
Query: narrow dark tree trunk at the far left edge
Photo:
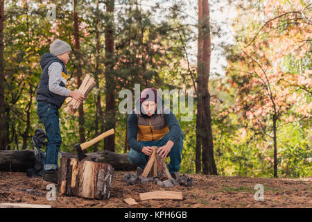
[[4, 58], [3, 58], [4, 0], [0, 0], [0, 150], [6, 149], [6, 103], [4, 99]]

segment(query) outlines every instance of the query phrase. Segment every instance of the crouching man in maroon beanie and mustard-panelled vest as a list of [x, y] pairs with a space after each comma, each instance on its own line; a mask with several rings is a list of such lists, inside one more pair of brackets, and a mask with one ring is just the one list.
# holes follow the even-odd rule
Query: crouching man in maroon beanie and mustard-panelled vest
[[154, 88], [144, 89], [137, 103], [139, 114], [133, 110], [128, 117], [129, 160], [138, 167], [140, 174], [153, 152], [151, 146], [160, 146], [158, 154], [164, 158], [170, 156], [168, 170], [173, 175], [179, 171], [181, 163], [183, 133], [180, 123], [173, 112], [166, 110]]

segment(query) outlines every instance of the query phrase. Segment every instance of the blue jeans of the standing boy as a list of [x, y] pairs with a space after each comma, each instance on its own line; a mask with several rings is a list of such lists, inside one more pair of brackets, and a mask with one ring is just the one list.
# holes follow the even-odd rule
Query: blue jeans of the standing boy
[[60, 135], [58, 108], [50, 103], [39, 101], [37, 114], [44, 124], [48, 145], [46, 146], [46, 157], [44, 160], [44, 171], [58, 169], [58, 151], [62, 144]]

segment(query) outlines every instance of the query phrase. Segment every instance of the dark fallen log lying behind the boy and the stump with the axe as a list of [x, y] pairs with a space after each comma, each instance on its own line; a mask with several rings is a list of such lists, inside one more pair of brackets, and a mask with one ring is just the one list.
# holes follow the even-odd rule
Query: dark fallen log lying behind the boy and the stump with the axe
[[[77, 158], [76, 154], [60, 152], [62, 157]], [[111, 164], [116, 171], [135, 171], [137, 167], [131, 164], [126, 153], [113, 153], [110, 151], [98, 151], [87, 153], [89, 161]], [[0, 171], [26, 172], [33, 168], [34, 151], [23, 150], [0, 151]]]

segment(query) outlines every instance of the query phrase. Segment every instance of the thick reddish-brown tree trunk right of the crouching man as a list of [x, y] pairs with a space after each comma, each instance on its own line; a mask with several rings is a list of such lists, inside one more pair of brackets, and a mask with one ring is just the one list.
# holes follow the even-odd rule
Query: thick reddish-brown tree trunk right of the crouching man
[[202, 145], [202, 167], [205, 174], [217, 174], [212, 141], [210, 95], [208, 91], [211, 40], [209, 3], [198, 0], [198, 122]]

